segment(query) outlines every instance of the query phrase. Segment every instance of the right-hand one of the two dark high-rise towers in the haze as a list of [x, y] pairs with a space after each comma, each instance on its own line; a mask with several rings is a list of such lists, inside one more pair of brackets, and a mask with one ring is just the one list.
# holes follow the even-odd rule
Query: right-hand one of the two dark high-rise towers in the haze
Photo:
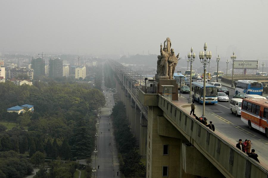
[[49, 77], [63, 76], [63, 62], [57, 57], [49, 60]]

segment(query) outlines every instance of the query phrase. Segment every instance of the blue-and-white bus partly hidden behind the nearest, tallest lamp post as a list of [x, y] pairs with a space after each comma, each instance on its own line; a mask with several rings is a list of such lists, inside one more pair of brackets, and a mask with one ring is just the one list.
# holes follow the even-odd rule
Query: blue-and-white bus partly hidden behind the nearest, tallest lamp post
[[[192, 82], [192, 93], [193, 99], [198, 101], [199, 103], [203, 103], [203, 82]], [[206, 83], [206, 96], [205, 96], [205, 103], [218, 103], [218, 93], [217, 87], [214, 85], [210, 85]]]

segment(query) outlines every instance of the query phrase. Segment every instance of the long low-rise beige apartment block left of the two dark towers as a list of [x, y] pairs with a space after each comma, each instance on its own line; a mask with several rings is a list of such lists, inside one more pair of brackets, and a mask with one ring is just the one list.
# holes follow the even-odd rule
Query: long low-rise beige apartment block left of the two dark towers
[[21, 67], [15, 67], [15, 68], [9, 68], [6, 72], [6, 78], [12, 79], [17, 78], [18, 76], [27, 76], [29, 79], [34, 78], [34, 70], [33, 69], [27, 69], [27, 68], [21, 68]]

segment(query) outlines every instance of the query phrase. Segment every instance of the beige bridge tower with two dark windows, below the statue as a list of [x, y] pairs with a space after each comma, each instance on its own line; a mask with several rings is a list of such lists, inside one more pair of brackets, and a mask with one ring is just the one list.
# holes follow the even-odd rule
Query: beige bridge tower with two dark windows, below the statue
[[183, 135], [162, 116], [157, 106], [148, 110], [146, 177], [182, 177]]

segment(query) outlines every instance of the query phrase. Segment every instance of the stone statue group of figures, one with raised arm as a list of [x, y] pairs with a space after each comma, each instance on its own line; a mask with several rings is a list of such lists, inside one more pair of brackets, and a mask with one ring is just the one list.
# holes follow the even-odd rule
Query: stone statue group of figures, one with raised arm
[[[164, 41], [164, 47], [160, 45], [160, 54], [157, 58], [157, 78], [158, 79], [173, 79], [175, 67], [178, 63], [179, 54], [175, 56], [174, 49], [171, 48], [170, 38]], [[179, 58], [179, 59], [178, 59]]]

